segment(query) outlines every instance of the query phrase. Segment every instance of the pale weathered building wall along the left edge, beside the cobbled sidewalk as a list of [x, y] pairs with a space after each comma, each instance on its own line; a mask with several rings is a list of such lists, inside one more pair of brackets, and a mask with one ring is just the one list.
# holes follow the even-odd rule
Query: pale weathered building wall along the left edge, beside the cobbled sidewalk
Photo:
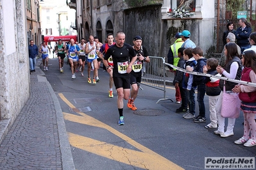
[[0, 143], [30, 96], [24, 0], [0, 0]]

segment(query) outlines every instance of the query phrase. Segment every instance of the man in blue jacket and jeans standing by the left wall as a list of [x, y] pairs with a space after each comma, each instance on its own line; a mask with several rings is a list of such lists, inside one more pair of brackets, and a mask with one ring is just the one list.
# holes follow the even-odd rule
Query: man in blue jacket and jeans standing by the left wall
[[33, 40], [30, 40], [30, 45], [28, 45], [28, 57], [30, 58], [30, 72], [35, 72], [35, 63], [37, 61], [38, 48], [34, 44]]

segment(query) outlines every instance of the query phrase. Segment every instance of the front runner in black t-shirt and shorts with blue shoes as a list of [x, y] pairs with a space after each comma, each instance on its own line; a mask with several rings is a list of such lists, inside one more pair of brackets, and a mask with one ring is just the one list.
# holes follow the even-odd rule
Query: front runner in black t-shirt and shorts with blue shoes
[[[123, 99], [128, 100], [130, 96], [130, 72], [132, 72], [132, 65], [137, 59], [132, 46], [124, 43], [124, 41], [125, 34], [122, 31], [118, 31], [115, 36], [115, 45], [112, 45], [112, 47], [108, 49], [103, 59], [107, 71], [111, 72], [113, 69], [113, 79], [115, 89], [117, 90], [117, 108], [119, 112], [118, 125], [124, 125]], [[108, 65], [108, 58], [110, 58], [110, 56], [112, 56], [114, 67]], [[131, 61], [130, 56], [133, 56]]]

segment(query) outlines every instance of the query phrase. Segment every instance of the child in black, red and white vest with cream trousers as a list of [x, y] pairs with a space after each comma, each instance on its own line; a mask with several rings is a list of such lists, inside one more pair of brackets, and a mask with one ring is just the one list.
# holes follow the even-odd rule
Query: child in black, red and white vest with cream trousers
[[[211, 75], [218, 75], [216, 70], [218, 66], [218, 59], [207, 59], [207, 65], [203, 67], [203, 73], [209, 73]], [[205, 91], [209, 96], [209, 111], [210, 111], [210, 123], [205, 125], [205, 128], [217, 128], [217, 115], [216, 115], [216, 103], [221, 93], [219, 88], [219, 79], [214, 77], [205, 77]]]

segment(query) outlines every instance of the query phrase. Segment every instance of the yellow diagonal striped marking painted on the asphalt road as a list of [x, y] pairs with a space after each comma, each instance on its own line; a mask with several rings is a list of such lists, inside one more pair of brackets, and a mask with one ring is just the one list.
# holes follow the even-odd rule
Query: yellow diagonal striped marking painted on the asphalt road
[[142, 144], [137, 143], [130, 137], [122, 134], [121, 132], [106, 125], [105, 123], [96, 120], [95, 118], [92, 118], [83, 112], [79, 112], [78, 109], [76, 109], [76, 107], [74, 107], [74, 105], [71, 104], [71, 102], [69, 102], [69, 100], [67, 100], [67, 98], [65, 98], [62, 93], [59, 93], [58, 95], [67, 105], [69, 105], [69, 107], [71, 107], [71, 109], [80, 114], [80, 116], [77, 116], [64, 112], [63, 114], [65, 120], [81, 123], [83, 125], [105, 128], [109, 132], [112, 132], [112, 134], [117, 135], [140, 151], [130, 150], [127, 148], [115, 146], [113, 144], [97, 141], [89, 137], [68, 133], [69, 143], [71, 146], [80, 148], [81, 150], [89, 151], [102, 157], [123, 162], [124, 164], [141, 167], [143, 169], [183, 169], [170, 160], [167, 160], [167, 158], [164, 158], [161, 155], [158, 155], [158, 153], [149, 150]]

